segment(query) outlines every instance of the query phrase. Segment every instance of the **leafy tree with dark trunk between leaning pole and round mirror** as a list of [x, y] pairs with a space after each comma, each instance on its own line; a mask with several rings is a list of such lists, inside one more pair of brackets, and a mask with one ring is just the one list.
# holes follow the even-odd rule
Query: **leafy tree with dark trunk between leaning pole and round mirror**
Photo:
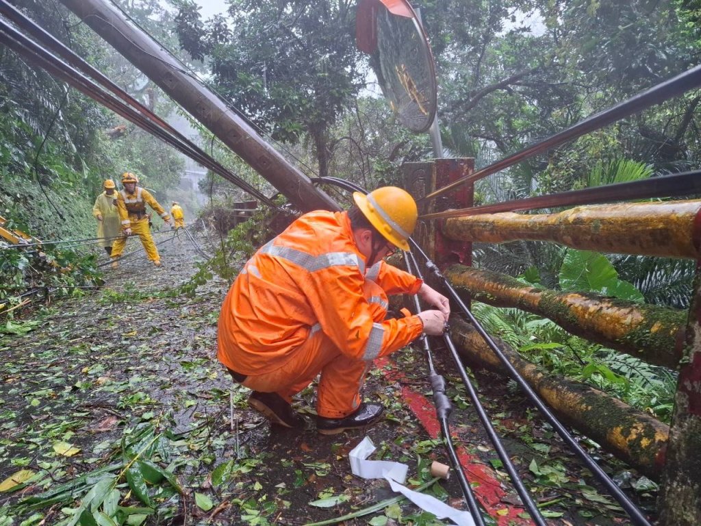
[[362, 86], [354, 4], [231, 0], [229, 26], [184, 1], [177, 29], [193, 58], [210, 56], [219, 93], [275, 140], [306, 135], [327, 175], [329, 128]]

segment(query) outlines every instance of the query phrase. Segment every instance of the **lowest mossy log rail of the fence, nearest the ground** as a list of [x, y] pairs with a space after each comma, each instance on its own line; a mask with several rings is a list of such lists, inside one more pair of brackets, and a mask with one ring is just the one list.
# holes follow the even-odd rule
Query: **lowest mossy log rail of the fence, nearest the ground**
[[[505, 374], [501, 361], [472, 325], [458, 319], [451, 320], [451, 328], [465, 360]], [[519, 374], [559, 417], [629, 466], [654, 480], [660, 479], [669, 426], [590, 386], [546, 375], [507, 344], [498, 339], [496, 342]]]

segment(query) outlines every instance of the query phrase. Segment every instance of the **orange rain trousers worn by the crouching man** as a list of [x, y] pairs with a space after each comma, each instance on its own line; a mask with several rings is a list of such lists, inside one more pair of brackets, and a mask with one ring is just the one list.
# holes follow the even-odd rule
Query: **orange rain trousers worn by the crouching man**
[[[364, 295], [370, 302], [373, 321], [387, 314], [387, 295], [374, 281], [365, 281]], [[321, 330], [299, 346], [283, 367], [263, 375], [251, 375], [243, 386], [253, 391], [275, 392], [288, 402], [306, 389], [321, 371], [317, 391], [317, 413], [321, 417], [345, 417], [358, 409], [360, 389], [372, 361], [350, 358]]]

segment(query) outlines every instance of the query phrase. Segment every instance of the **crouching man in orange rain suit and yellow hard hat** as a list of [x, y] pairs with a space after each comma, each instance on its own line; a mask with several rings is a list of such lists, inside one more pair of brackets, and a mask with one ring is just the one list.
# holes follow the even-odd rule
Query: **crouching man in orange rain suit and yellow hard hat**
[[[360, 398], [372, 361], [422, 332], [442, 334], [448, 319], [446, 297], [383, 261], [409, 250], [414, 199], [397, 187], [353, 199], [348, 212], [299, 217], [248, 260], [224, 299], [217, 357], [273, 424], [304, 426], [290, 401], [319, 373], [320, 433], [376, 422], [382, 405]], [[386, 320], [387, 296], [404, 293], [437, 310]]]

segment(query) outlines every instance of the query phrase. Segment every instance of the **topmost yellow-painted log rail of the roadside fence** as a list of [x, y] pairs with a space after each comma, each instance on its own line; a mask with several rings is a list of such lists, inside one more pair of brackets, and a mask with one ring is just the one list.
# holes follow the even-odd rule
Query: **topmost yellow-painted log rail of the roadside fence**
[[578, 206], [559, 214], [482, 214], [446, 220], [443, 234], [463, 241], [553, 241], [580, 250], [699, 259], [699, 210], [701, 201], [665, 201]]

